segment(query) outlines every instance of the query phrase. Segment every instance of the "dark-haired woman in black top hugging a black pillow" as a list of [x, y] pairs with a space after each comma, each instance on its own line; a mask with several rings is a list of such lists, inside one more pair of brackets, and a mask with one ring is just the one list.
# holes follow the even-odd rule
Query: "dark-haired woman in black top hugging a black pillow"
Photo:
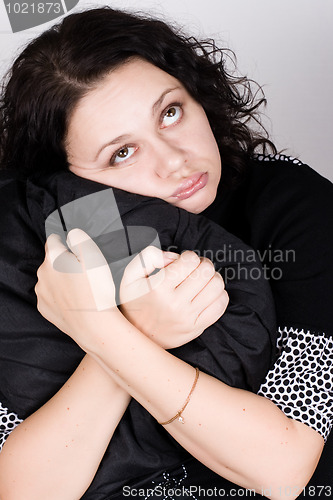
[[[207, 209], [208, 215], [216, 217], [219, 222], [222, 220], [223, 223], [227, 222], [227, 226], [233, 232], [238, 233], [261, 252], [266, 251], [265, 263], [271, 272], [274, 269], [272, 254], [275, 258], [274, 251], [280, 251], [280, 262], [276, 267], [281, 269], [282, 276], [275, 282], [272, 274], [272, 282], [281, 333], [285, 333], [284, 337], [287, 337], [282, 339], [285, 356], [283, 358], [282, 355], [276, 368], [269, 374], [261, 393], [275, 399], [276, 404], [284, 409], [286, 415], [289, 412], [294, 418], [287, 418], [268, 398], [239, 392], [208, 376], [200, 375], [199, 380], [195, 378], [193, 382], [193, 368], [166, 353], [158, 345], [158, 339], [155, 343], [140, 335], [140, 332], [125, 322], [115, 310], [110, 313], [113, 314], [112, 324], [114, 325], [115, 321], [119, 322], [121, 339], [119, 340], [119, 337], [115, 339], [113, 334], [107, 336], [111, 318], [109, 313], [102, 313], [98, 316], [100, 328], [96, 343], [96, 324], [93, 324], [96, 315], [93, 320], [89, 314], [66, 313], [68, 307], [73, 308], [71, 302], [73, 297], [79, 300], [76, 304], [81, 304], [77, 286], [74, 284], [72, 287], [68, 281], [64, 283], [62, 278], [66, 276], [61, 278], [54, 274], [48, 257], [41, 271], [41, 283], [43, 278], [44, 280], [51, 278], [51, 282], [55, 283], [55, 289], [52, 289], [51, 298], [45, 288], [39, 292], [40, 300], [43, 301], [40, 307], [49, 320], [66, 331], [91, 355], [85, 358], [82, 367], [75, 372], [73, 380], [68, 386], [66, 385], [59, 398], [72, 402], [73, 394], [77, 396], [79, 391], [83, 390], [81, 378], [85, 369], [85, 371], [91, 370], [90, 382], [96, 377], [94, 383], [89, 384], [91, 397], [96, 398], [96, 406], [101, 405], [102, 401], [104, 403], [106, 397], [109, 401], [111, 399], [113, 401], [113, 405], [110, 405], [112, 408], [107, 409], [110, 413], [106, 411], [98, 436], [94, 438], [98, 452], [94, 457], [90, 457], [89, 464], [84, 463], [87, 469], [85, 473], [80, 471], [79, 478], [75, 475], [75, 481], [82, 477], [91, 478], [128, 404], [128, 394], [130, 394], [153, 417], [164, 423], [171, 420], [168, 408], [174, 408], [176, 413], [183, 408], [185, 401], [186, 425], [180, 426], [175, 420], [166, 424], [168, 432], [184, 448], [219, 475], [237, 484], [255, 488], [272, 498], [281, 496], [295, 498], [311, 476], [321, 453], [323, 437], [319, 432], [322, 431], [326, 437], [328, 431], [324, 419], [329, 416], [331, 382], [330, 379], [325, 380], [324, 376], [329, 375], [330, 358], [326, 350], [331, 348], [332, 344], [331, 339], [326, 337], [323, 331], [329, 335], [332, 325], [326, 301], [322, 300], [318, 309], [314, 311], [311, 297], [317, 297], [319, 293], [322, 296], [325, 290], [328, 293], [326, 280], [331, 269], [328, 266], [331, 264], [324, 260], [314, 263], [311, 260], [313, 254], [310, 259], [308, 253], [304, 251], [308, 242], [302, 238], [311, 238], [309, 229], [314, 226], [318, 245], [324, 244], [323, 238], [327, 236], [331, 225], [328, 223], [327, 229], [326, 226], [323, 227], [326, 222], [318, 214], [323, 210], [322, 204], [325, 205], [330, 199], [331, 186], [307, 167], [295, 165], [291, 168], [290, 162], [284, 162], [281, 158], [266, 157], [267, 160], [272, 160], [266, 164], [251, 158], [256, 147], [270, 145], [267, 139], [260, 134], [252, 133], [242, 121], [253, 116], [257, 106], [253, 103], [248, 88], [243, 87], [245, 93], [241, 94], [239, 89], [242, 87], [237, 87], [236, 83], [239, 85], [242, 82], [235, 82], [228, 77], [222, 62], [212, 61], [210, 57], [214, 56], [209, 56], [204, 45], [198, 45], [193, 39], [184, 40], [163, 23], [124, 16], [111, 10], [90, 11], [77, 16], [65, 19], [59, 35], [57, 30], [54, 30], [40, 38], [41, 43], [45, 41], [46, 45], [52, 47], [52, 58], [50, 53], [47, 56], [41, 51], [36, 53], [34, 46], [31, 45], [25, 55], [17, 61], [16, 66], [14, 65], [13, 72], [16, 69], [21, 70], [21, 78], [24, 78], [25, 73], [40, 83], [42, 74], [46, 75], [45, 65], [51, 63], [53, 75], [56, 74], [59, 79], [56, 82], [57, 93], [52, 94], [55, 87], [51, 91], [54, 99], [52, 110], [50, 111], [48, 107], [48, 116], [40, 116], [45, 106], [42, 106], [43, 96], [36, 93], [35, 114], [31, 115], [30, 108], [27, 117], [24, 108], [26, 95], [24, 92], [19, 92], [22, 79], [12, 80], [12, 85], [8, 86], [5, 109], [10, 109], [10, 113], [6, 116], [14, 119], [5, 125], [6, 149], [3, 154], [5, 165], [14, 168], [20, 165], [26, 173], [32, 169], [43, 168], [46, 164], [53, 170], [66, 169], [69, 165], [74, 173], [82, 177], [138, 192], [135, 175], [133, 181], [133, 175], [126, 176], [122, 173], [122, 169], [130, 170], [136, 165], [138, 167], [136, 170], [140, 170], [140, 178], [142, 176], [145, 181], [144, 191], [139, 194], [157, 195], [169, 203], [195, 213]], [[111, 22], [114, 24], [111, 25]], [[116, 27], [119, 31], [115, 30]], [[94, 37], [89, 38], [87, 33], [91, 33], [92, 30]], [[159, 43], [152, 47], [152, 39], [158, 40]], [[105, 51], [108, 45], [114, 50]], [[59, 47], [58, 58], [55, 57], [55, 47]], [[30, 59], [33, 65], [29, 65], [29, 52], [33, 53], [33, 58]], [[103, 54], [103, 57], [97, 57], [97, 54], [100, 56]], [[36, 57], [40, 64], [38, 71]], [[81, 66], [78, 61], [81, 62]], [[60, 62], [64, 72], [59, 71]], [[142, 75], [145, 75], [145, 78]], [[149, 108], [146, 106], [147, 95], [144, 93], [148, 82], [149, 91], [151, 85], [154, 91], [157, 88], [162, 90], [163, 87]], [[45, 85], [51, 83], [49, 78], [44, 81]], [[47, 94], [48, 98], [51, 94]], [[21, 102], [17, 99], [18, 95], [21, 95]], [[46, 93], [44, 95], [46, 96]], [[163, 107], [166, 98], [172, 100], [168, 100], [165, 103], [166, 107]], [[64, 102], [67, 104], [66, 116], [61, 113]], [[94, 114], [96, 109], [98, 113]], [[154, 116], [151, 114], [152, 111], [159, 117], [154, 122], [151, 121], [151, 116]], [[108, 121], [108, 116], [112, 116], [112, 122]], [[141, 121], [137, 119], [138, 116]], [[208, 118], [207, 122], [205, 117]], [[189, 125], [196, 124], [197, 120], [204, 132], [203, 136], [194, 136], [197, 142], [200, 140], [198, 148], [195, 141], [187, 142], [192, 137], [191, 133], [195, 134], [195, 127]], [[128, 123], [131, 124], [130, 129]], [[21, 125], [20, 129], [17, 129], [18, 124]], [[55, 124], [58, 125], [56, 130]], [[85, 129], [86, 124], [89, 125], [88, 130]], [[124, 125], [127, 125], [127, 129]], [[142, 136], [139, 134], [141, 127], [144, 131]], [[100, 135], [106, 128], [110, 136], [101, 141]], [[13, 130], [16, 135], [13, 134]], [[27, 147], [26, 142], [28, 131], [30, 147]], [[211, 132], [214, 134], [213, 137]], [[130, 137], [124, 137], [125, 134]], [[181, 141], [178, 140], [178, 134]], [[49, 140], [50, 137], [52, 141]], [[140, 144], [141, 140], [143, 145]], [[188, 144], [191, 147], [188, 147]], [[206, 156], [200, 156], [201, 146]], [[218, 170], [219, 154], [223, 165], [221, 182]], [[168, 162], [164, 161], [166, 158]], [[118, 166], [121, 163], [124, 165]], [[153, 183], [156, 177], [159, 179], [158, 185]], [[303, 195], [297, 192], [297, 184], [301, 184], [303, 189], [307, 189], [311, 194], [319, 193], [316, 195], [315, 210], [312, 203], [311, 211], [309, 210], [306, 206], [308, 201], [304, 205]], [[217, 190], [218, 196], [214, 202]], [[298, 208], [293, 210], [295, 199], [299, 200]], [[268, 220], [263, 217], [265, 210], [269, 214]], [[305, 212], [306, 218], [302, 211]], [[295, 227], [299, 228], [296, 237], [293, 232]], [[72, 237], [73, 248], [75, 243], [78, 245], [82, 243], [81, 234], [74, 233]], [[271, 254], [269, 250], [272, 250]], [[285, 261], [283, 252], [286, 250], [296, 251], [295, 262]], [[96, 249], [91, 251], [94, 255], [98, 255]], [[51, 242], [50, 252], [57, 255], [63, 253], [64, 248], [58, 242]], [[71, 257], [67, 255], [66, 258]], [[309, 272], [304, 279], [305, 265]], [[84, 286], [83, 290], [88, 290], [87, 282], [81, 285]], [[67, 289], [69, 292], [66, 293], [66, 300], [62, 305], [62, 299], [57, 295], [57, 287], [62, 291]], [[112, 294], [107, 296], [112, 305]], [[312, 310], [309, 307], [309, 297]], [[51, 306], [52, 302], [58, 306], [54, 304]], [[61, 323], [59, 323], [60, 317]], [[309, 330], [309, 334], [304, 335], [302, 328]], [[116, 340], [117, 359], [112, 354]], [[144, 353], [146, 357], [149, 356], [154, 362], [148, 365], [142, 363], [142, 357], [138, 358], [135, 351], [129, 360], [128, 350], [123, 345], [126, 340], [134, 342], [132, 345], [136, 351]], [[313, 340], [317, 349], [311, 346]], [[295, 366], [293, 364], [291, 373], [303, 372], [304, 354], [306, 357], [304, 364], [314, 365], [311, 366], [314, 372], [306, 374], [309, 377], [305, 382], [302, 381], [303, 386], [308, 384], [306, 389], [301, 387], [300, 380], [292, 391], [281, 384], [282, 391], [280, 388], [277, 391], [281, 396], [278, 401], [278, 397], [274, 398], [273, 390], [270, 388], [274, 385], [275, 379], [279, 382], [277, 378], [279, 372], [287, 378], [288, 383], [293, 379], [294, 375], [288, 372], [293, 356], [288, 350], [290, 351], [294, 347], [293, 344], [298, 341], [300, 345], [304, 344], [302, 350], [305, 352], [301, 354], [300, 347], [296, 348], [296, 363]], [[103, 349], [100, 342], [103, 343]], [[286, 343], [290, 345], [285, 347]], [[310, 359], [318, 349], [319, 353], [317, 352], [316, 356], [321, 358], [324, 367], [319, 370], [317, 370], [318, 363]], [[92, 357], [97, 359], [99, 366], [105, 368], [105, 371], [96, 366]], [[327, 370], [327, 373], [322, 373], [321, 369]], [[98, 393], [95, 390], [96, 384], [101, 388]], [[317, 387], [322, 386], [324, 387], [322, 398], [319, 397], [320, 401], [316, 401], [318, 395], [313, 393]], [[306, 391], [310, 394], [305, 394]], [[303, 406], [309, 404], [306, 402], [307, 398], [315, 406], [316, 412], [314, 410], [313, 412], [318, 419], [311, 414], [306, 415]], [[208, 414], [207, 407], [209, 407]], [[299, 410], [296, 409], [298, 407]], [[203, 408], [206, 410], [205, 413]], [[75, 410], [72, 417], [74, 420], [69, 425], [71, 428], [77, 425], [77, 417], [83, 411], [87, 411], [86, 408], [80, 407], [79, 403], [75, 406]], [[44, 411], [49, 412], [47, 415], [52, 418], [52, 404], [46, 406]], [[325, 415], [323, 411], [326, 412]], [[67, 416], [71, 418], [69, 412], [70, 410], [65, 412], [65, 418]], [[310, 422], [311, 419], [314, 422]], [[86, 420], [89, 420], [89, 415]], [[324, 422], [323, 428], [318, 424], [319, 420]], [[205, 425], [206, 421], [209, 425]], [[30, 431], [37, 422], [38, 419], [30, 421]], [[57, 422], [54, 425], [56, 424]], [[5, 472], [1, 479], [7, 483], [5, 485], [7, 489], [11, 475], [14, 470], [17, 472], [19, 466], [17, 459], [23, 456], [20, 455], [22, 452], [20, 446], [23, 442], [24, 429], [27, 427], [19, 426], [12, 433], [2, 452], [1, 459], [4, 464], [2, 470]], [[69, 442], [79, 441], [72, 435], [69, 435], [68, 439]], [[245, 440], [247, 447], [243, 455], [241, 451], [243, 452]], [[54, 446], [55, 443], [52, 443], [51, 447]], [[82, 451], [78, 447], [78, 455], [82, 454]], [[64, 460], [63, 454], [59, 456]], [[9, 457], [14, 457], [15, 462]], [[200, 470], [198, 465], [194, 467]], [[73, 469], [68, 470], [74, 474]], [[188, 470], [193, 469], [189, 466], [186, 471]], [[166, 473], [164, 474], [166, 477]], [[204, 476], [218, 484], [218, 477], [208, 474], [205, 470]], [[75, 481], [72, 475], [73, 483]], [[52, 484], [48, 474], [43, 474], [43, 477], [45, 480], [40, 485], [40, 491], [45, 491], [42, 488], [49, 488]], [[191, 480], [192, 478], [188, 479]], [[182, 481], [185, 484], [185, 478], [178, 478], [179, 484]], [[55, 482], [59, 488], [59, 476], [55, 478]], [[66, 487], [64, 486], [63, 498], [66, 494], [69, 495], [68, 482], [69, 478], [68, 481], [64, 481]], [[214, 483], [208, 482], [208, 484]], [[36, 488], [35, 485], [33, 487]], [[87, 483], [80, 484], [80, 487], [85, 491]], [[36, 489], [34, 494], [36, 495]]]

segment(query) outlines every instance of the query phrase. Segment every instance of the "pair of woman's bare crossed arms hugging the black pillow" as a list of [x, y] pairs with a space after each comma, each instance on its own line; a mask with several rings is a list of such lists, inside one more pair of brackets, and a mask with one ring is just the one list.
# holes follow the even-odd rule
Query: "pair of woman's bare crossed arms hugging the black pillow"
[[[52, 495], [55, 499], [80, 498], [94, 477], [130, 397], [158, 421], [168, 420], [182, 407], [193, 384], [194, 369], [165, 348], [195, 338], [216, 321], [227, 304], [223, 282], [209, 263], [200, 262], [193, 254], [186, 262], [184, 258], [170, 258], [158, 265], [154, 256], [152, 268], [169, 265], [161, 285], [150, 293], [150, 303], [155, 301], [157, 308], [161, 302], [165, 308], [169, 298], [174, 318], [179, 317], [174, 304], [182, 310], [182, 317], [192, 318], [185, 328], [179, 325], [166, 335], [157, 325], [149, 325], [145, 331], [144, 325], [138, 329], [131, 324], [115, 307], [112, 278], [106, 268], [104, 310], [91, 312], [91, 305], [96, 303], [91, 285], [96, 277], [57, 273], [52, 266], [61, 253], [84, 265], [87, 255], [79, 251], [83, 249], [82, 235], [74, 233], [75, 238], [77, 257], [64, 253], [59, 242], [53, 241], [40, 269], [37, 294], [42, 314], [88, 355], [59, 393], [9, 436], [0, 454], [3, 500], [20, 499], [22, 495], [27, 500], [45, 495], [50, 499]], [[91, 247], [89, 251], [93, 254], [97, 250]], [[196, 277], [195, 296], [189, 295], [193, 281], [188, 286], [186, 276], [190, 275]], [[178, 281], [172, 279], [175, 276]], [[133, 286], [141, 286], [146, 280], [139, 276]], [[136, 318], [139, 323], [138, 314]], [[283, 485], [301, 491], [323, 446], [319, 434], [288, 419], [269, 400], [230, 388], [204, 373], [200, 374], [184, 419], [185, 425], [174, 421], [166, 426], [183, 447], [233, 482], [258, 491], [271, 488], [272, 498], [280, 498], [278, 488]]]

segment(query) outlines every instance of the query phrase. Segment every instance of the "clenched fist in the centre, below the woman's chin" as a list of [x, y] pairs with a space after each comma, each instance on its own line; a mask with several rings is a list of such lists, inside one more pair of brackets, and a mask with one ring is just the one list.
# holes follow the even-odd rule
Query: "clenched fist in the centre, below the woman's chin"
[[198, 337], [222, 316], [228, 301], [212, 262], [191, 251], [179, 256], [147, 247], [128, 264], [120, 285], [124, 316], [165, 349]]

